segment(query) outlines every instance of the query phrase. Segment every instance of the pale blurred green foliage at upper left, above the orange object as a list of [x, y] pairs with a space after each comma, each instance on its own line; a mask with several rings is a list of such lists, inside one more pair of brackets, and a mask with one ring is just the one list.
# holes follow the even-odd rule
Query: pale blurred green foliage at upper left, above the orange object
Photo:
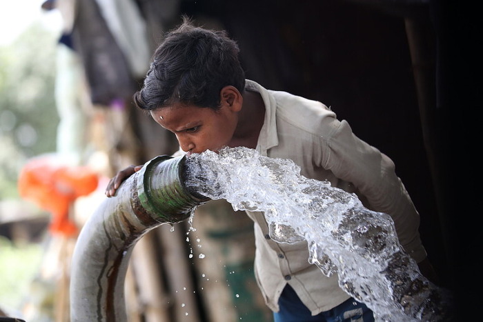
[[57, 35], [32, 24], [0, 46], [0, 199], [17, 196], [17, 177], [30, 157], [55, 151]]

